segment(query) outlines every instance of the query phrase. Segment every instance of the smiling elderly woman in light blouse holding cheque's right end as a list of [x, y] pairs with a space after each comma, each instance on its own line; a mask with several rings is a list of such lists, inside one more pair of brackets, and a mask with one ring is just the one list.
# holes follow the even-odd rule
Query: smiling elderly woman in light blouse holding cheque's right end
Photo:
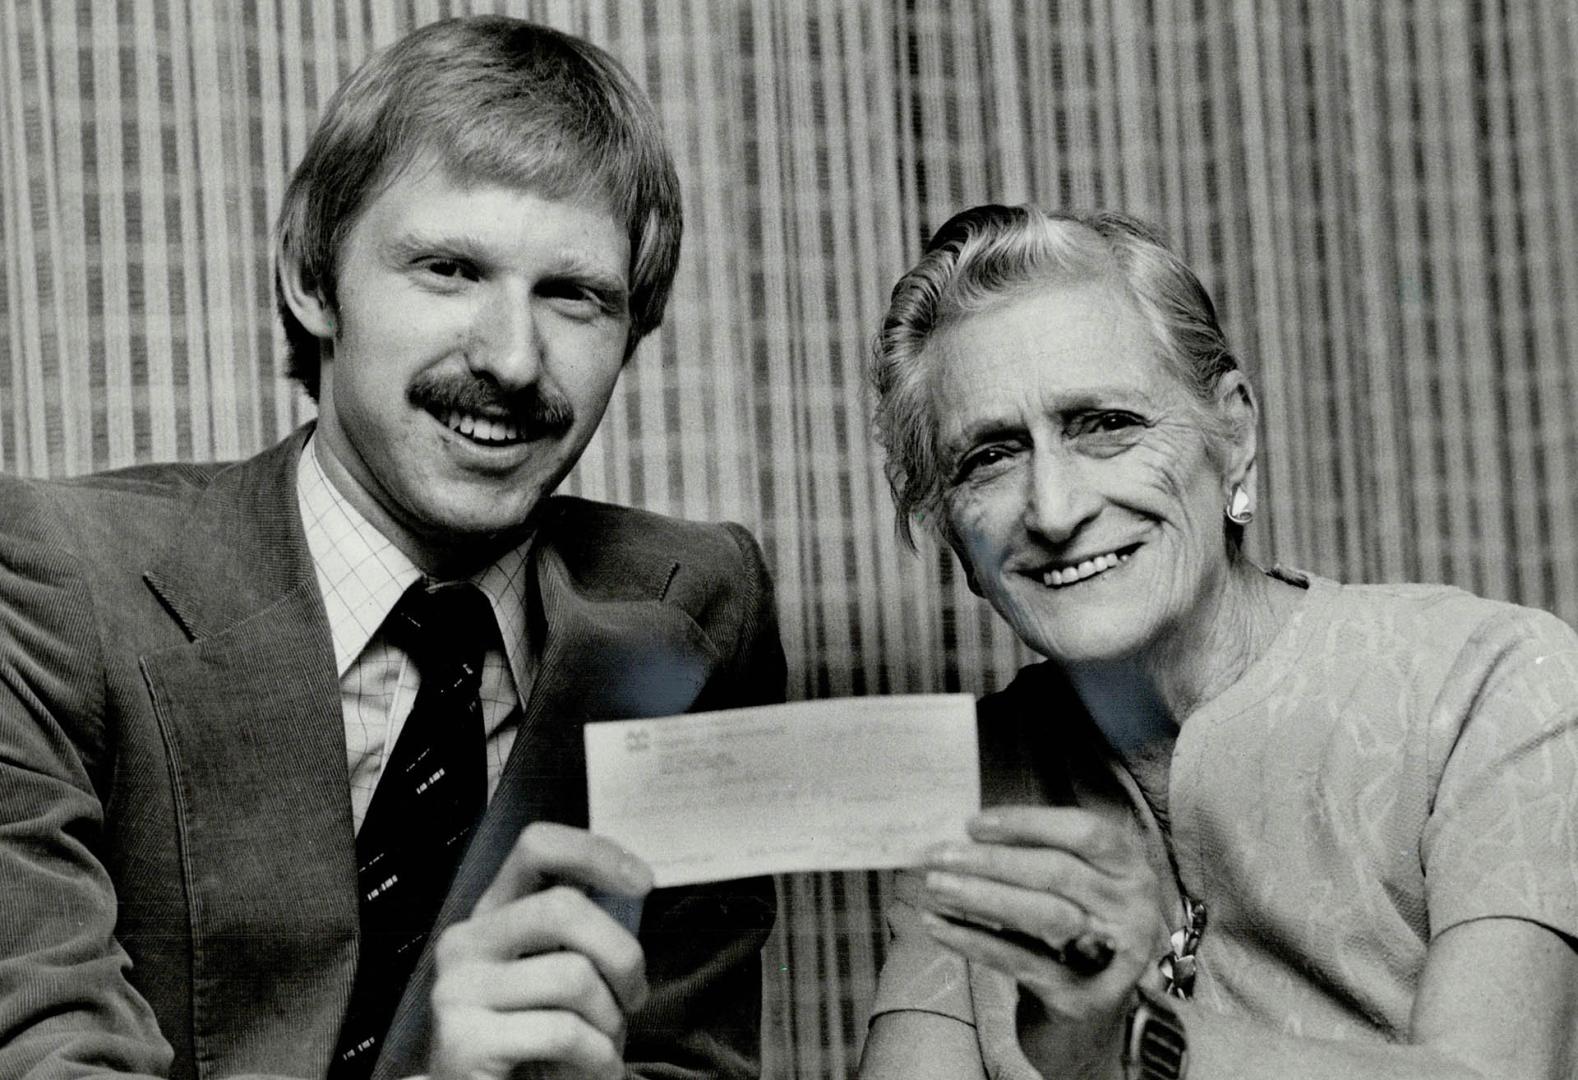
[[978, 207], [895, 287], [901, 518], [1045, 663], [903, 875], [862, 1077], [1572, 1077], [1578, 636], [1240, 551], [1256, 398], [1119, 215]]

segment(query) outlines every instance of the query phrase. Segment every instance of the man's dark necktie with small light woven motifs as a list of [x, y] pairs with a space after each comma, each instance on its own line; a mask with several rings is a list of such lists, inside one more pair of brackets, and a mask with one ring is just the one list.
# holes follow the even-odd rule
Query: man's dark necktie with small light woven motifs
[[330, 1080], [361, 1080], [372, 1071], [488, 802], [477, 696], [483, 652], [499, 638], [488, 600], [470, 584], [429, 589], [418, 581], [385, 633], [417, 665], [421, 688], [357, 834], [361, 952]]

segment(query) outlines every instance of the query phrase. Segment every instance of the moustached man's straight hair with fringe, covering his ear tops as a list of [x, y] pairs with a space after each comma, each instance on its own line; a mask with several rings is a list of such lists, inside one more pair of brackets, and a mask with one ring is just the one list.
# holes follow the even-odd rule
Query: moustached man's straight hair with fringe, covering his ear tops
[[[276, 229], [306, 284], [335, 306], [357, 218], [402, 171], [434, 163], [458, 183], [548, 199], [601, 199], [630, 235], [626, 357], [663, 321], [680, 249], [674, 159], [647, 95], [614, 57], [503, 16], [421, 27], [374, 55], [328, 101]], [[317, 398], [319, 343], [275, 298], [289, 371]]]

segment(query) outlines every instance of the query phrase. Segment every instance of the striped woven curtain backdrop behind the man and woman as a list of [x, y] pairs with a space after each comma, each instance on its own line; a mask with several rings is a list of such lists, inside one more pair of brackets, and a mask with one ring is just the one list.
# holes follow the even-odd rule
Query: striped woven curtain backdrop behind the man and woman
[[[0, 0], [0, 469], [234, 458], [309, 418], [268, 231], [330, 90], [450, 14], [598, 41], [658, 101], [686, 238], [571, 491], [735, 519], [792, 696], [1027, 660], [899, 549], [862, 365], [974, 202], [1122, 207], [1258, 373], [1251, 549], [1578, 621], [1572, 0]], [[775, 1077], [852, 1074], [882, 875], [783, 879]]]

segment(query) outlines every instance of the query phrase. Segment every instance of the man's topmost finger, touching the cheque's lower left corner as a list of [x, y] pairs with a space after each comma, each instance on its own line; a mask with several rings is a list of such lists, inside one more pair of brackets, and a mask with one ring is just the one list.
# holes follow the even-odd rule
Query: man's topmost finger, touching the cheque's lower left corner
[[644, 897], [652, 891], [652, 870], [612, 840], [585, 829], [533, 821], [521, 831], [472, 914], [488, 914], [555, 883]]

